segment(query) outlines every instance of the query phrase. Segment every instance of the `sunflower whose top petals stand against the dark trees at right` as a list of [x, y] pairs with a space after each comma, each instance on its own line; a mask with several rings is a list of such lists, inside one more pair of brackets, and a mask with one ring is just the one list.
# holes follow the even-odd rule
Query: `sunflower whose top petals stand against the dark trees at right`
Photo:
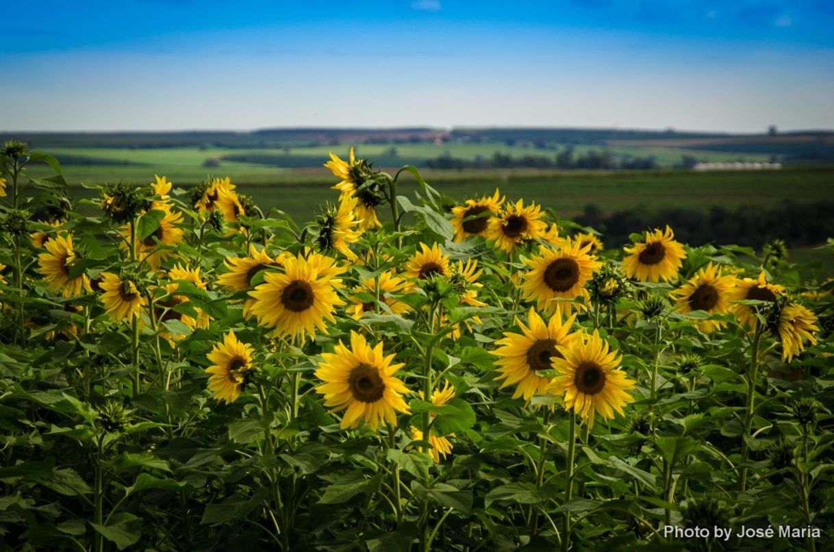
[[686, 252], [681, 243], [675, 241], [675, 234], [669, 225], [666, 231], [655, 228], [646, 232], [646, 241], [623, 248], [628, 257], [623, 258], [623, 270], [629, 278], [641, 282], [671, 282], [677, 278], [681, 260]]

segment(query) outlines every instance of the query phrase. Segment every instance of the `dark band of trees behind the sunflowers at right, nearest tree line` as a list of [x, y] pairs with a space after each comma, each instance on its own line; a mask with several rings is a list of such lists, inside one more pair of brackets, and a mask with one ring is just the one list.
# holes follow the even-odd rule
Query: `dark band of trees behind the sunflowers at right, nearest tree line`
[[834, 236], [834, 203], [786, 202], [770, 209], [716, 206], [707, 212], [685, 207], [654, 212], [629, 209], [610, 214], [603, 213], [595, 205], [588, 205], [576, 222], [600, 230], [608, 247], [628, 243], [632, 232], [664, 228], [667, 223], [675, 231], [676, 239], [692, 245], [736, 243], [760, 248], [764, 243], [781, 238], [796, 247], [817, 245]]

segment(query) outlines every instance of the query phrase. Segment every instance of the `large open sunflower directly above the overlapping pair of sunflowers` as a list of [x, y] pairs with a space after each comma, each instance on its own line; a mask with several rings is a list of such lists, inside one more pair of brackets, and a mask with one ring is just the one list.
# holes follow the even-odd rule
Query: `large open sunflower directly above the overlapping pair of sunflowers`
[[520, 286], [525, 300], [536, 301], [538, 308], [548, 314], [557, 309], [563, 314], [570, 312], [570, 303], [557, 298], [587, 299], [585, 284], [602, 266], [588, 254], [590, 246], [583, 248], [570, 238], [561, 243], [558, 251], [541, 247], [538, 255], [525, 260], [530, 271], [522, 276]]

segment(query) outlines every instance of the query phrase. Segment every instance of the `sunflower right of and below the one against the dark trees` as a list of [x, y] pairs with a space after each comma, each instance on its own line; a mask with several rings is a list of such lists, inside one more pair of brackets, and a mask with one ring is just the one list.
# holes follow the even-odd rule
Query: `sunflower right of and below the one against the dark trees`
[[[733, 284], [735, 279], [732, 276], [723, 275], [721, 267], [709, 263], [671, 295], [677, 299], [676, 310], [681, 313], [702, 310], [708, 314], [726, 314], [730, 310]], [[696, 327], [705, 334], [724, 326], [726, 323], [721, 320], [696, 321]]]

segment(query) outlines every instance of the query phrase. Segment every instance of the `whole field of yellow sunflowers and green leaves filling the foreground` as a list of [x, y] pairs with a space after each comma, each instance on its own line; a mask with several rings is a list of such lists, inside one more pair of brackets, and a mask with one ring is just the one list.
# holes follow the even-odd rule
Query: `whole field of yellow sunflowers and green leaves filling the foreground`
[[831, 549], [834, 284], [783, 243], [353, 150], [304, 224], [0, 163], [3, 549]]

